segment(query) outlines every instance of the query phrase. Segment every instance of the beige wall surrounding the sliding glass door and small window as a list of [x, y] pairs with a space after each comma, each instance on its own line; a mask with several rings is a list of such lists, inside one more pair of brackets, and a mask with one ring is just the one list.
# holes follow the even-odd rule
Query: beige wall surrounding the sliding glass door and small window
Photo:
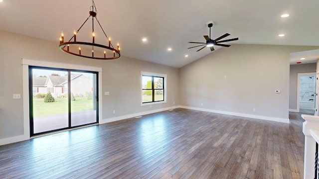
[[[177, 68], [124, 57], [124, 49], [119, 59], [92, 60], [61, 52], [58, 41], [51, 42], [5, 31], [0, 31], [0, 36], [0, 145], [1, 140], [24, 134], [22, 58], [102, 68], [102, 91], [110, 91], [110, 95], [103, 95], [100, 101], [103, 103], [100, 109], [103, 119], [100, 118], [100, 121], [178, 105]], [[152, 108], [141, 106], [141, 71], [167, 74], [167, 103], [152, 105]], [[13, 93], [20, 93], [21, 99], [12, 99]]]

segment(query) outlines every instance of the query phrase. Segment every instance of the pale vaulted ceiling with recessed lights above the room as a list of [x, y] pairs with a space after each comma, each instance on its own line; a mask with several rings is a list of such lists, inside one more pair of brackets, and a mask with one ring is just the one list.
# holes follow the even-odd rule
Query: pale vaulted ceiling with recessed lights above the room
[[[212, 39], [225, 33], [231, 34], [225, 39], [239, 37], [238, 41], [225, 44], [319, 46], [318, 0], [94, 2], [106, 34], [120, 43], [121, 56], [177, 68], [226, 48], [216, 47], [213, 52], [209, 48], [199, 52], [196, 50], [200, 47], [187, 49], [193, 46], [188, 41], [205, 42], [203, 35], [209, 34], [208, 21], [214, 22]], [[71, 37], [73, 30], [89, 16], [91, 4], [91, 0], [3, 0], [0, 2], [0, 29], [55, 41], [58, 48], [61, 31], [65, 38]], [[280, 17], [284, 13], [290, 16]], [[85, 27], [81, 31], [84, 30]], [[96, 39], [98, 37], [96, 34]], [[147, 42], [142, 42], [144, 37]], [[167, 48], [172, 50], [167, 51]], [[303, 63], [309, 63], [307, 55], [302, 53], [306, 58]], [[293, 54], [292, 58], [299, 58], [297, 56]], [[312, 51], [311, 58], [317, 60], [319, 51]]]

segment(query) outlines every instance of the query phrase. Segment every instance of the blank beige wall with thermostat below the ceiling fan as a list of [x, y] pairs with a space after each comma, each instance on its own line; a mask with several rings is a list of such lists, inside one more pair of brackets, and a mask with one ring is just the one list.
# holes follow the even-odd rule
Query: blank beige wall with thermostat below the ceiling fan
[[290, 53], [307, 49], [318, 47], [233, 44], [218, 49], [180, 69], [180, 105], [288, 121]]

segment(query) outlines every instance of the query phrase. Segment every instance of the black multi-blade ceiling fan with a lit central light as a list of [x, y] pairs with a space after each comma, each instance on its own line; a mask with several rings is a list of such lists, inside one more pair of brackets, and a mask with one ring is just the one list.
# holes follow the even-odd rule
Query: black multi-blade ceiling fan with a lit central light
[[[221, 40], [227, 36], [229, 36], [230, 34], [229, 33], [225, 33], [224, 35], [216, 38], [215, 40], [211, 39], [211, 36], [210, 36], [210, 28], [213, 26], [213, 23], [209, 23], [208, 24], [208, 27], [209, 27], [209, 37], [208, 35], [204, 35], [204, 38], [206, 40], [206, 43], [203, 43], [203, 42], [188, 42], [188, 43], [197, 43], [197, 44], [203, 44], [205, 45], [204, 47], [198, 49], [196, 52], [200, 51], [201, 49], [205, 48], [205, 47], [210, 47], [210, 51], [213, 51], [215, 50], [214, 49], [214, 45], [217, 45], [217, 46], [222, 46], [222, 47], [230, 47], [230, 45], [227, 45], [227, 44], [220, 44], [220, 43], [223, 43], [223, 42], [229, 42], [229, 41], [234, 41], [234, 40], [238, 40], [238, 38], [233, 38], [233, 39], [227, 39], [227, 40]], [[221, 41], [219, 41], [221, 40]], [[194, 46], [194, 47], [200, 47], [200, 46], [203, 46], [203, 45], [197, 45], [197, 46]], [[190, 49], [190, 48], [194, 48], [194, 47], [189, 47], [187, 49]]]

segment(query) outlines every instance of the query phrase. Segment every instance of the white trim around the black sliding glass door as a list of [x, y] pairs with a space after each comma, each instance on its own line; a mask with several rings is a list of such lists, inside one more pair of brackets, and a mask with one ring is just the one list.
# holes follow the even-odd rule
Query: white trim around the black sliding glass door
[[[59, 62], [47, 62], [40, 60], [29, 60], [22, 58], [22, 87], [23, 87], [23, 139], [30, 139], [30, 120], [29, 120], [29, 66], [60, 68], [70, 70], [83, 70], [98, 73], [98, 96], [99, 109], [102, 109], [102, 68], [84, 65], [75, 65]], [[102, 118], [102, 110], [98, 112], [99, 118]], [[101, 120], [99, 120], [100, 123]]]

